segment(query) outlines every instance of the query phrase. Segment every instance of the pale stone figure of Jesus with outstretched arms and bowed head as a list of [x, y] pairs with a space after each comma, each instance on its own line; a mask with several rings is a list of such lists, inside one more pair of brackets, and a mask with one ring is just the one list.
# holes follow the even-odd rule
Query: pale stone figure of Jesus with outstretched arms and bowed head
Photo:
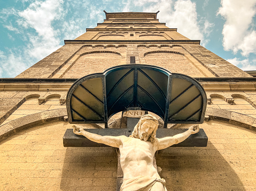
[[165, 180], [153, 166], [154, 154], [174, 144], [183, 142], [191, 134], [199, 131], [198, 125], [173, 137], [156, 138], [158, 120], [150, 114], [143, 115], [134, 127], [130, 137], [100, 136], [73, 126], [76, 135], [83, 135], [96, 143], [117, 147], [120, 150], [120, 164], [123, 171], [121, 191], [166, 191]]

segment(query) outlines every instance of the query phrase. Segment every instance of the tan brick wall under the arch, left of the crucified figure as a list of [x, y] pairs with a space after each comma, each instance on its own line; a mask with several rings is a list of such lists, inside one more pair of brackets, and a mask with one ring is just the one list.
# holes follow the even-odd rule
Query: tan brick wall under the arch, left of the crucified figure
[[0, 190], [115, 190], [114, 148], [64, 148], [67, 128], [48, 123], [1, 142]]

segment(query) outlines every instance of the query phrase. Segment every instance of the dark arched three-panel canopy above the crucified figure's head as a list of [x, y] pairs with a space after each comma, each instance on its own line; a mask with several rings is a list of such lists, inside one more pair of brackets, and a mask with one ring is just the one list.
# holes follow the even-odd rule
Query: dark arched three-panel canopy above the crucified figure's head
[[167, 123], [203, 123], [204, 88], [195, 79], [153, 65], [121, 65], [77, 80], [67, 93], [69, 123], [105, 123], [141, 109]]

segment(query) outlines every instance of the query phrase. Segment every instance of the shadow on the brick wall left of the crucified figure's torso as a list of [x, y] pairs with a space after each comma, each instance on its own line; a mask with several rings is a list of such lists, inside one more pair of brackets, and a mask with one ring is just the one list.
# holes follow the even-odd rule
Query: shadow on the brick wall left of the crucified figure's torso
[[117, 161], [112, 147], [67, 147], [60, 189], [113, 191]]

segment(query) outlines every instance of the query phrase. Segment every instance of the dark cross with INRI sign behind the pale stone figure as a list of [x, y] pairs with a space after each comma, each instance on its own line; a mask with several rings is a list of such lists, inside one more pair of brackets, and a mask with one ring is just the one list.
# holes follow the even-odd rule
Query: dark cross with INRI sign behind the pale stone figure
[[[131, 132], [133, 132], [135, 125], [139, 121], [139, 118], [144, 115], [144, 111], [127, 111], [122, 114], [122, 119], [127, 118], [127, 128], [108, 128], [108, 129], [84, 129], [88, 132], [92, 132], [98, 135], [108, 135], [108, 136], [130, 136]], [[157, 138], [163, 138], [168, 136], [174, 136], [180, 134], [188, 129], [158, 129], [157, 130]], [[173, 145], [174, 147], [206, 147], [208, 142], [208, 137], [205, 134], [204, 129], [200, 129], [197, 134], [190, 135], [183, 142]], [[66, 133], [63, 137], [63, 144], [65, 147], [106, 147], [107, 145], [99, 144], [92, 142], [88, 138], [75, 135], [73, 129], [67, 129]], [[120, 190], [121, 184], [123, 182], [123, 172], [120, 165], [120, 152], [117, 148], [117, 157], [118, 157], [118, 171], [117, 171], [117, 191]], [[158, 170], [156, 164], [156, 155], [154, 156], [153, 161], [154, 167]]]

